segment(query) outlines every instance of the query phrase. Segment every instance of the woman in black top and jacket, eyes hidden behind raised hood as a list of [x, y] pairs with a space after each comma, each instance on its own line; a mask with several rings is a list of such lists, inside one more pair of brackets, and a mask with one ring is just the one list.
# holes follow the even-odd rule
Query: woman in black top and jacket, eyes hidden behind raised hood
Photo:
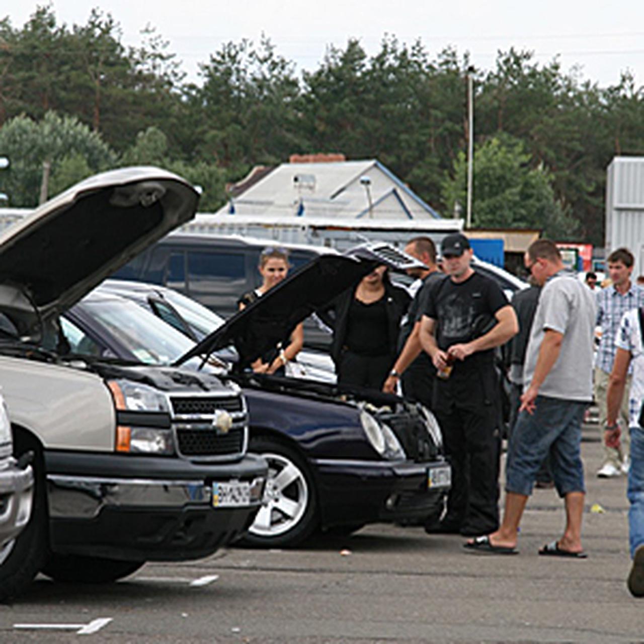
[[337, 381], [381, 390], [396, 359], [401, 318], [410, 296], [379, 266], [320, 314], [333, 328], [331, 357]]

